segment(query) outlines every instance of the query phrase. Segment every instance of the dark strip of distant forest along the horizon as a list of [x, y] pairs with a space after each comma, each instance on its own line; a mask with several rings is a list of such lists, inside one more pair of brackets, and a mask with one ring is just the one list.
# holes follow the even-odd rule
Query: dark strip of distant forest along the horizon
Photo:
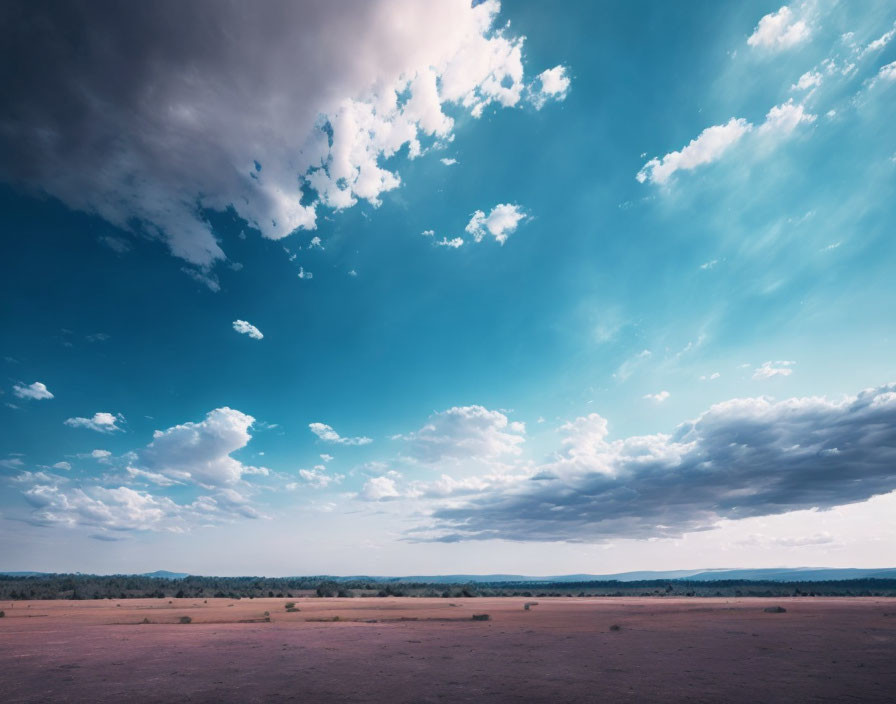
[[896, 596], [896, 579], [838, 581], [643, 580], [636, 582], [477, 582], [433, 584], [332, 577], [184, 577], [51, 574], [0, 575], [0, 600], [17, 599], [257, 599], [265, 597], [481, 596]]

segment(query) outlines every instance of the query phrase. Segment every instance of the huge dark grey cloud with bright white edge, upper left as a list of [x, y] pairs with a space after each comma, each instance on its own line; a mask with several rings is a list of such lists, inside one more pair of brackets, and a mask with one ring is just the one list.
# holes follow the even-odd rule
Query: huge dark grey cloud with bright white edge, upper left
[[519, 104], [524, 40], [499, 10], [13, 0], [0, 178], [164, 241], [216, 289], [207, 272], [225, 254], [207, 209], [232, 206], [272, 239], [313, 229], [320, 206], [377, 205], [397, 188], [384, 162], [448, 141], [448, 107]]

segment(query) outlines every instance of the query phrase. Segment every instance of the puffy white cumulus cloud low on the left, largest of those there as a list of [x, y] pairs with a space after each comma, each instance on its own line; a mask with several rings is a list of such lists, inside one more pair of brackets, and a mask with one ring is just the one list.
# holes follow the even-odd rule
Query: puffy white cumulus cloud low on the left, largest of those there
[[244, 474], [266, 471], [230, 456], [249, 444], [249, 428], [254, 422], [252, 416], [232, 408], [216, 408], [198, 423], [155, 431], [152, 442], [137, 453], [134, 465], [202, 486], [235, 484]]

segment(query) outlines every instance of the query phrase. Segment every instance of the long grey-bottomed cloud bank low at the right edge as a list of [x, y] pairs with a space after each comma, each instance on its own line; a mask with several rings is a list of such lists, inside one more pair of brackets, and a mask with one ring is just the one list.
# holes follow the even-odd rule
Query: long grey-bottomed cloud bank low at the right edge
[[610, 440], [597, 414], [567, 432], [556, 460], [437, 507], [430, 537], [673, 537], [896, 489], [896, 384], [840, 401], [734, 399], [669, 435]]

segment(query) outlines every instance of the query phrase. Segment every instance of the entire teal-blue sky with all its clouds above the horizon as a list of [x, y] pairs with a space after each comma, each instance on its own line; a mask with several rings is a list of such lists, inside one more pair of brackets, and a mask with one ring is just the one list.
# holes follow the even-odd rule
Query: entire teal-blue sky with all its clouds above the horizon
[[894, 564], [892, 3], [0, 15], [0, 569]]

